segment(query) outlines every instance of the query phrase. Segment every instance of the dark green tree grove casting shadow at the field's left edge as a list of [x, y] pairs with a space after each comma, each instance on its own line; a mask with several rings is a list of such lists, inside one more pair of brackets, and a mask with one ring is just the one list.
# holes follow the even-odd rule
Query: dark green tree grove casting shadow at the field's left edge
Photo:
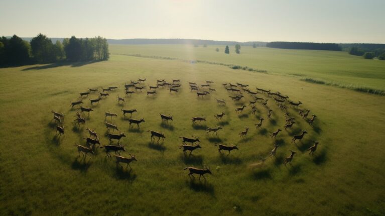
[[108, 43], [105, 38], [65, 38], [55, 44], [43, 34], [30, 42], [17, 35], [0, 38], [0, 65], [23, 65], [33, 63], [54, 63], [59, 61], [101, 61], [108, 60]]

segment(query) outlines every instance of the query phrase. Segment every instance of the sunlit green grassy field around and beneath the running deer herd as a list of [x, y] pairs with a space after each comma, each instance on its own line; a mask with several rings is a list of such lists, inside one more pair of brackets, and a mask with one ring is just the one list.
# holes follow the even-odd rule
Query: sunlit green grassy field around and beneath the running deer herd
[[[188, 53], [173, 52], [179, 49], [175, 46], [155, 46], [157, 49], [153, 51], [151, 47], [137, 46], [131, 51], [130, 46], [111, 46], [111, 52], [202, 58], [266, 69], [269, 73], [115, 54], [109, 61], [85, 65], [0, 69], [0, 214], [383, 215], [383, 96], [277, 74], [314, 75], [379, 88], [381, 84], [383, 87], [384, 73], [376, 68], [383, 68], [384, 62], [363, 61], [342, 52], [265, 48], [255, 49], [255, 52], [266, 51], [270, 55], [252, 60], [250, 54], [248, 59], [242, 60], [247, 52], [254, 51], [243, 47], [242, 55], [231, 56], [235, 58], [195, 51], [191, 52], [195, 56], [190, 57]], [[198, 48], [201, 49], [204, 48]], [[276, 58], [275, 55], [304, 58], [304, 65], [301, 67], [288, 58]], [[328, 73], [331, 66], [324, 65], [325, 59], [338, 64], [336, 70], [349, 72]], [[361, 74], [358, 66], [342, 63], [343, 59], [361, 68], [366, 65], [367, 74], [366, 70]], [[338, 63], [339, 60], [342, 62]], [[319, 68], [319, 65], [324, 67]], [[354, 76], [354, 71], [360, 72]], [[146, 85], [155, 84], [160, 78], [179, 78], [182, 90], [170, 93], [167, 89], [159, 89], [154, 97], [137, 93], [125, 97], [124, 104], [118, 104], [116, 97], [124, 95], [123, 84], [138, 78], [147, 78]], [[217, 91], [199, 99], [190, 92], [187, 81], [203, 83], [205, 80], [213, 80]], [[318, 119], [314, 127], [310, 127], [298, 117], [297, 110], [290, 108], [289, 112], [298, 124], [272, 139], [270, 133], [283, 129], [285, 122], [273, 99], [270, 98], [268, 103], [273, 110], [272, 120], [256, 130], [254, 124], [258, 117], [266, 119], [266, 107], [257, 103], [256, 115], [251, 114], [249, 106], [243, 113], [236, 114], [234, 109], [240, 104], [234, 104], [228, 98], [229, 94], [221, 85], [223, 82], [241, 82], [250, 85], [250, 89], [258, 86], [280, 91], [292, 100], [301, 100], [302, 108], [311, 110], [310, 115], [315, 114]], [[93, 106], [95, 111], [86, 116], [85, 126], [74, 127], [72, 121], [76, 111], [71, 109], [70, 102], [87, 88], [111, 85], [119, 89]], [[95, 97], [96, 94], [91, 94], [88, 98]], [[87, 107], [90, 106], [88, 98], [84, 99]], [[214, 98], [225, 98], [227, 105], [219, 106]], [[248, 103], [250, 99], [246, 96], [242, 101]], [[120, 111], [123, 108], [138, 110], [133, 117], [146, 121], [140, 129], [129, 128]], [[50, 124], [51, 110], [65, 114], [66, 131], [60, 139], [55, 138], [54, 124]], [[118, 114], [113, 122], [127, 136], [120, 142], [127, 150], [122, 155], [136, 154], [138, 161], [131, 164], [131, 172], [117, 167], [114, 159], [107, 158], [102, 149], [96, 149], [96, 155], [87, 156], [85, 160], [78, 158], [74, 143], [84, 144], [82, 138], [88, 136], [87, 127], [96, 129], [101, 143], [108, 144], [103, 124], [106, 111]], [[213, 116], [222, 111], [226, 115], [218, 122]], [[159, 113], [171, 114], [174, 121], [169, 125], [162, 124]], [[207, 122], [194, 126], [191, 117], [201, 115]], [[215, 125], [223, 126], [218, 136], [205, 136], [204, 129]], [[242, 139], [237, 134], [244, 127], [250, 130]], [[301, 129], [306, 129], [309, 134], [297, 146], [291, 144], [292, 136]], [[151, 143], [148, 130], [165, 133], [165, 141]], [[202, 149], [185, 157], [178, 148], [181, 145], [178, 137], [191, 135], [200, 138]], [[314, 156], [309, 156], [306, 149], [312, 140], [318, 140], [320, 144]], [[214, 146], [216, 143], [237, 144], [239, 150], [222, 156]], [[261, 158], [268, 156], [274, 143], [280, 144], [276, 158], [261, 163]], [[290, 154], [289, 150], [296, 151], [297, 155], [293, 166], [285, 167], [282, 162]], [[213, 174], [206, 175], [206, 181], [190, 180], [187, 170], [183, 170], [186, 166], [209, 166]]]

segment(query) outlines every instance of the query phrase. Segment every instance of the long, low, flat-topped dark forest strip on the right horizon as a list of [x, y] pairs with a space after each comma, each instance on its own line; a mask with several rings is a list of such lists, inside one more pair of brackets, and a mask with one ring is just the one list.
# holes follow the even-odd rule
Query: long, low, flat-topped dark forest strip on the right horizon
[[334, 43], [308, 43], [308, 42], [270, 42], [266, 47], [280, 49], [301, 49], [301, 50], [333, 50], [341, 51], [341, 47]]

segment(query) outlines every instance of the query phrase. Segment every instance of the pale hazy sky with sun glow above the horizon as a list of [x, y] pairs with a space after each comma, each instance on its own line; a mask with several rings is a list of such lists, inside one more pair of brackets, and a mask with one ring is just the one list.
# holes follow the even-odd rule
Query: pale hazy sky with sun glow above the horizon
[[4, 36], [385, 43], [385, 0], [0, 3]]

